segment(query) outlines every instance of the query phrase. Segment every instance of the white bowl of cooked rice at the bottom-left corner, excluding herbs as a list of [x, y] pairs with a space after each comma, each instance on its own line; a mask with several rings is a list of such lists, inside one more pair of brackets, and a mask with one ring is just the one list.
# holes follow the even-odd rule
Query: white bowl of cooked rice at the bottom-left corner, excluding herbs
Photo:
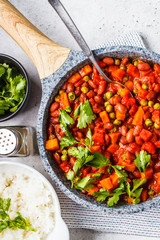
[[31, 226], [31, 230], [6, 227], [1, 240], [69, 240], [57, 194], [42, 174], [24, 164], [2, 161], [0, 179], [0, 200], [10, 199], [11, 221], [20, 213]]

